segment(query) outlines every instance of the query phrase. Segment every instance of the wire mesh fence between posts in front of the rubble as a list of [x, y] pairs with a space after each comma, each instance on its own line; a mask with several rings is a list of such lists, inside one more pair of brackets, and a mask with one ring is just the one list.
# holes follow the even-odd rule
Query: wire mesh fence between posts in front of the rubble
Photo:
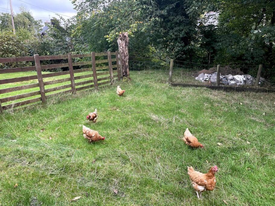
[[[139, 74], [146, 75], [155, 73], [159, 76], [159, 78], [162, 78], [164, 81], [168, 82], [170, 59], [163, 60], [130, 57], [129, 68], [132, 71], [139, 71]], [[268, 89], [274, 88], [275, 71], [274, 69], [272, 70], [271, 67], [265, 65], [262, 68], [260, 84], [258, 86], [255, 85], [258, 68], [259, 65], [220, 65], [220, 86], [260, 86]], [[217, 73], [217, 65], [174, 60], [172, 82], [195, 85], [216, 85], [215, 73]], [[201, 78], [198, 78], [199, 75]], [[230, 80], [228, 79], [229, 75], [233, 76]], [[214, 78], [211, 78], [211, 76]], [[241, 78], [243, 78], [243, 80]]]

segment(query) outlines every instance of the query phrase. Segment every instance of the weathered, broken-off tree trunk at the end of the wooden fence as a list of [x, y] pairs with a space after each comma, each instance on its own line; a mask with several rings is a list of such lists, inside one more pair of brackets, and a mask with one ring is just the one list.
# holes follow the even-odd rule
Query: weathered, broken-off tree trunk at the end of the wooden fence
[[121, 65], [122, 65], [122, 74], [123, 77], [126, 77], [127, 79], [130, 79], [130, 73], [129, 73], [129, 52], [128, 52], [128, 45], [129, 45], [129, 37], [127, 32], [123, 32], [119, 35], [117, 39], [118, 48], [121, 53]]

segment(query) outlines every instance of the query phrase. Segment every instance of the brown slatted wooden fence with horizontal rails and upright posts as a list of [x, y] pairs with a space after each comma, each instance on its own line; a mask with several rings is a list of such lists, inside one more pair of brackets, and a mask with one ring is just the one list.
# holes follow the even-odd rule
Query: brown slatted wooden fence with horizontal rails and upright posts
[[[115, 56], [115, 58], [112, 59], [112, 55]], [[96, 60], [97, 56], [101, 56], [101, 59]], [[104, 59], [105, 57], [105, 59]], [[107, 59], [106, 59], [107, 57]], [[91, 58], [91, 61], [78, 61], [74, 62], [74, 58]], [[43, 60], [56, 60], [56, 59], [67, 59], [68, 63], [62, 63], [62, 64], [49, 64], [49, 65], [40, 65], [40, 62]], [[30, 80], [38, 80], [38, 83], [34, 84], [26, 84], [26, 85], [20, 85], [16, 87], [9, 87], [9, 88], [3, 88], [0, 89], [0, 94], [4, 93], [10, 93], [14, 91], [19, 90], [26, 90], [30, 88], [39, 87], [39, 90], [32, 91], [29, 93], [23, 93], [18, 94], [15, 96], [9, 96], [0, 98], [0, 113], [3, 112], [4, 109], [9, 109], [13, 107], [23, 106], [30, 103], [35, 103], [42, 101], [42, 103], [47, 102], [47, 98], [51, 97], [56, 94], [61, 93], [68, 93], [72, 92], [75, 93], [79, 90], [88, 89], [91, 87], [98, 88], [101, 85], [104, 84], [113, 84], [114, 78], [122, 76], [122, 68], [121, 64], [119, 64], [120, 61], [120, 55], [118, 55], [118, 52], [102, 52], [102, 53], [95, 53], [91, 52], [88, 54], [67, 54], [67, 55], [54, 55], [54, 56], [39, 56], [38, 54], [34, 56], [28, 56], [28, 57], [13, 57], [13, 58], [0, 58], [0, 63], [10, 63], [10, 62], [29, 62], [33, 61], [35, 66], [26, 66], [26, 67], [17, 67], [17, 68], [4, 68], [0, 69], [0, 74], [3, 73], [14, 73], [14, 72], [22, 72], [22, 71], [36, 71], [36, 75], [31, 76], [24, 76], [24, 77], [15, 77], [15, 78], [8, 78], [8, 79], [0, 79], [0, 85], [1, 84], [10, 84], [15, 82], [22, 82], [22, 81], [30, 81]], [[115, 64], [113, 64], [115, 62]], [[99, 63], [108, 63], [106, 66], [97, 66]], [[33, 64], [33, 65], [34, 65]], [[90, 68], [80, 68], [80, 69], [74, 69], [76, 66], [82, 66], [82, 65], [92, 65]], [[61, 71], [61, 72], [51, 72], [42, 74], [42, 71], [53, 69], [53, 68], [64, 68], [68, 67], [69, 71]], [[117, 70], [113, 71], [113, 68], [117, 68]], [[106, 71], [107, 70], [107, 71]], [[77, 73], [82, 72], [88, 72], [88, 74], [75, 76]], [[117, 73], [117, 74], [115, 74]], [[57, 79], [52, 81], [45, 81], [45, 78], [50, 77], [56, 77], [61, 75], [70, 75], [69, 78], [63, 78], [63, 79]], [[108, 75], [108, 76], [106, 76]], [[104, 77], [101, 77], [104, 76]], [[75, 80], [79, 79], [87, 79], [92, 78], [85, 81], [80, 81], [75, 83]], [[52, 85], [52, 84], [58, 84], [70, 81], [70, 84], [57, 86], [53, 88], [45, 89], [46, 85]], [[98, 83], [99, 82], [99, 83]], [[24, 82], [23, 82], [24, 84]], [[86, 85], [88, 84], [88, 85]], [[86, 85], [86, 86], [81, 86]], [[81, 86], [81, 87], [78, 87]], [[70, 88], [69, 90], [65, 90], [66, 88]], [[55, 91], [62, 90], [61, 92], [53, 93]], [[47, 93], [52, 93], [47, 95]], [[21, 102], [16, 103], [10, 103], [8, 105], [2, 106], [1, 103], [7, 103], [18, 99], [23, 99], [27, 97], [33, 97], [40, 95], [40, 97], [36, 97], [33, 99], [24, 100]]]

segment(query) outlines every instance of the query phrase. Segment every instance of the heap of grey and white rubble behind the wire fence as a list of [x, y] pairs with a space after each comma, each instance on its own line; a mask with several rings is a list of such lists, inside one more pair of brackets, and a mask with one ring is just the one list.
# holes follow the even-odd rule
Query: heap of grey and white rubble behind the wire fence
[[[215, 70], [216, 70], [216, 67], [210, 68], [209, 70], [203, 69], [199, 71], [198, 72], [199, 75], [196, 77], [196, 80], [199, 80], [202, 82], [208, 81], [209, 83], [216, 83], [217, 72], [212, 73]], [[230, 67], [221, 68], [221, 72], [222, 73], [220, 73], [220, 84], [239, 86], [239, 85], [245, 85], [245, 84], [254, 84], [256, 81], [256, 79], [251, 75], [244, 74], [242, 71], [239, 71], [239, 70], [235, 71]], [[233, 73], [235, 75], [232, 75], [229, 73]], [[263, 83], [264, 81], [265, 79], [261, 77], [259, 84]]]

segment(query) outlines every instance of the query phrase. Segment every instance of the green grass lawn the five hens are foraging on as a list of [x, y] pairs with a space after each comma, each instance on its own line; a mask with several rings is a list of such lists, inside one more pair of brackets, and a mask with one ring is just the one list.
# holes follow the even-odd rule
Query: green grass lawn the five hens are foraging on
[[[274, 204], [274, 93], [170, 87], [155, 73], [131, 78], [0, 115], [0, 204]], [[85, 122], [94, 108], [98, 122]], [[105, 141], [89, 144], [83, 124]], [[179, 139], [187, 127], [205, 150]], [[187, 166], [205, 173], [213, 165], [216, 189], [198, 200]]]

